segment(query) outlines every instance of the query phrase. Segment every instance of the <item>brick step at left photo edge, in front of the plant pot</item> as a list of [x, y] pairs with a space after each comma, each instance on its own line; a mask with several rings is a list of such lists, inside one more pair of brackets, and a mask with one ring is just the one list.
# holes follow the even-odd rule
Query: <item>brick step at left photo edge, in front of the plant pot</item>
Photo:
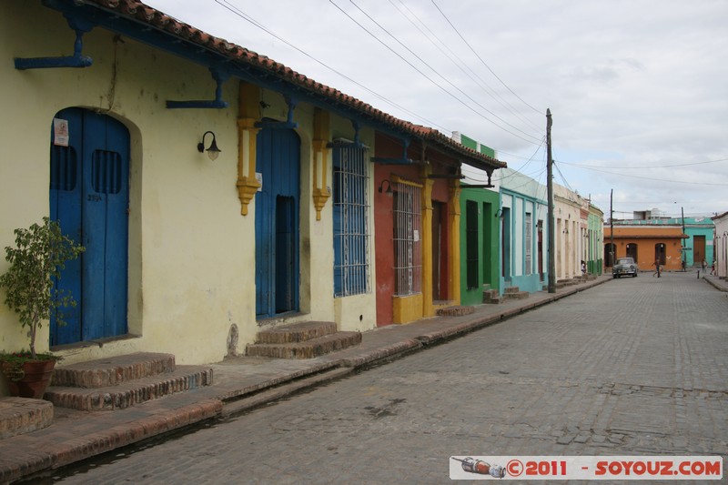
[[43, 399], [0, 398], [0, 440], [44, 429], [53, 422], [53, 404]]

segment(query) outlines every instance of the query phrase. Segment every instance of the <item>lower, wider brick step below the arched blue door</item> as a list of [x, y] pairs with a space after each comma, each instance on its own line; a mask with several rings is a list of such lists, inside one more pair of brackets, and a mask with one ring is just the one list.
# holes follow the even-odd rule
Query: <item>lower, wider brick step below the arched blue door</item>
[[148, 400], [210, 384], [212, 384], [212, 369], [201, 366], [178, 366], [171, 372], [125, 380], [108, 387], [78, 388], [53, 385], [45, 391], [43, 399], [61, 408], [84, 411], [126, 409]]

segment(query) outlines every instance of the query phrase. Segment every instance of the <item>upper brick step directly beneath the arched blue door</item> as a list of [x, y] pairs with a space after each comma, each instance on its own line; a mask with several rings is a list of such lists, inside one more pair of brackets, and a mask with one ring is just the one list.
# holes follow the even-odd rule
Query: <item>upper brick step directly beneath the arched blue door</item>
[[53, 386], [106, 388], [123, 382], [164, 374], [175, 370], [175, 356], [137, 352], [108, 359], [88, 360], [53, 371]]

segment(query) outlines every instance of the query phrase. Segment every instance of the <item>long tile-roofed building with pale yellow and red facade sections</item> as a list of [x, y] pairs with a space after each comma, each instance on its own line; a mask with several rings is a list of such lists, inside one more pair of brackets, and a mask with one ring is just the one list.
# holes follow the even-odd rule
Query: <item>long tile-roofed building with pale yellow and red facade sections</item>
[[[133, 0], [0, 23], [0, 246], [50, 216], [86, 247], [40, 349], [209, 363], [261, 328], [460, 304], [460, 167], [495, 157]], [[0, 334], [23, 347], [5, 306]]]

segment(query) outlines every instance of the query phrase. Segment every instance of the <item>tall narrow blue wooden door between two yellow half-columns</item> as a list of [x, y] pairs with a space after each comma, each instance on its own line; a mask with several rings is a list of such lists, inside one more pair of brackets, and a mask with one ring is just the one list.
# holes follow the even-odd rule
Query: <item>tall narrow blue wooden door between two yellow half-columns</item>
[[289, 129], [258, 132], [256, 167], [256, 314], [298, 310], [298, 176], [300, 140]]

